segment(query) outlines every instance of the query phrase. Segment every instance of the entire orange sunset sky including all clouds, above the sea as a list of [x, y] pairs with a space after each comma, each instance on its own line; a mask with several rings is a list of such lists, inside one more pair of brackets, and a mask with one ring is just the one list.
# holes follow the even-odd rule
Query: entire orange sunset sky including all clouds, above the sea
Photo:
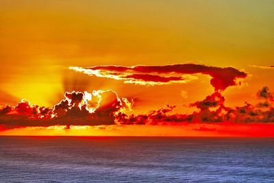
[[[260, 128], [266, 132], [274, 114], [273, 8], [274, 1], [270, 0], [0, 1], [0, 134], [29, 134], [29, 128], [33, 134], [43, 135], [98, 132], [123, 136], [132, 134], [129, 128], [136, 128], [133, 134], [142, 136], [245, 136], [258, 135], [251, 131]], [[144, 68], [138, 70], [138, 65]], [[123, 71], [108, 66], [123, 66]], [[151, 71], [149, 66], [158, 67]], [[73, 101], [68, 97], [73, 90], [90, 95], [77, 93], [78, 101]], [[103, 104], [99, 103], [100, 97]], [[62, 108], [63, 118], [55, 109], [62, 99], [71, 102]], [[201, 103], [210, 103], [208, 100], [211, 104], [217, 101], [208, 108], [201, 107]], [[20, 102], [25, 103], [27, 112], [21, 109], [24, 105], [18, 105]], [[37, 108], [28, 103], [49, 110], [37, 117], [33, 112]], [[89, 106], [81, 110], [79, 103]], [[94, 126], [73, 132], [75, 129], [67, 126], [71, 115], [76, 114], [70, 112], [73, 105], [82, 112], [88, 108], [92, 118], [106, 121], [97, 123], [92, 119], [88, 123], [89, 116], [76, 112], [81, 117], [85, 115], [79, 120], [85, 123], [80, 125], [110, 126], [99, 127], [102, 132], [97, 127], [94, 130]], [[6, 106], [10, 108], [3, 112]], [[235, 111], [244, 106], [249, 116], [255, 112], [255, 117], [243, 118], [241, 114], [239, 118]], [[222, 111], [216, 112], [217, 108]], [[115, 119], [103, 119], [95, 109]], [[161, 121], [154, 124], [151, 115], [155, 113], [151, 111], [159, 109], [171, 111], [161, 111]], [[208, 115], [208, 110], [215, 111], [215, 118], [203, 120], [201, 114]], [[229, 110], [234, 110], [234, 120]], [[127, 117], [118, 120], [117, 112]], [[134, 117], [130, 117], [132, 114]], [[195, 124], [191, 126], [190, 120], [183, 120], [182, 114]], [[140, 115], [151, 118], [144, 122]], [[166, 116], [169, 122], [180, 124], [162, 124]], [[196, 116], [199, 117], [195, 119]], [[31, 125], [35, 120], [43, 121], [38, 123], [44, 127], [43, 132], [38, 125]], [[68, 123], [60, 124], [64, 120]], [[136, 121], [145, 124], [136, 125]], [[247, 121], [256, 124], [243, 125]], [[151, 127], [151, 123], [155, 126]], [[248, 130], [231, 132], [229, 128], [234, 123]], [[49, 124], [65, 127], [58, 131]]]

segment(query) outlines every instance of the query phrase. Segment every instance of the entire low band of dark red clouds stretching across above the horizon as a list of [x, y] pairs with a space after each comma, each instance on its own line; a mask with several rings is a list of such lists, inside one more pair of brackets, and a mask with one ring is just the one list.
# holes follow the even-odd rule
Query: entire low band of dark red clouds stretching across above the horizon
[[197, 108], [192, 114], [174, 114], [176, 106], [166, 105], [148, 114], [127, 114], [132, 101], [119, 98], [112, 90], [87, 92], [67, 92], [62, 101], [53, 109], [32, 105], [23, 99], [16, 106], [4, 106], [0, 110], [0, 125], [50, 126], [50, 125], [171, 125], [179, 123], [217, 123], [217, 122], [274, 122], [274, 108], [271, 91], [264, 87], [258, 90], [257, 97], [265, 99], [256, 105], [229, 108], [225, 97], [216, 91], [201, 101], [190, 103]]

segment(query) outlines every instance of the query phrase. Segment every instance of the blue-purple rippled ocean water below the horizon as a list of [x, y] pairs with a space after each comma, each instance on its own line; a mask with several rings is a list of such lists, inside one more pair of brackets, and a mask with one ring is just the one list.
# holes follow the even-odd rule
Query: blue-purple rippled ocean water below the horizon
[[0, 182], [274, 182], [274, 138], [1, 136]]

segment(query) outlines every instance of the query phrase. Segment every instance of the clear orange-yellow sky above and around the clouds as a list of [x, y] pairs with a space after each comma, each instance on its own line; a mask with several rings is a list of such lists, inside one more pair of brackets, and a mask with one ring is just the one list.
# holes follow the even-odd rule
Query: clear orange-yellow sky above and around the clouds
[[[0, 1], [0, 105], [21, 99], [53, 107], [72, 90], [116, 91], [134, 114], [188, 104], [213, 93], [208, 75], [186, 84], [140, 86], [84, 75], [69, 66], [196, 63], [248, 73], [225, 105], [256, 103], [274, 89], [273, 1]], [[123, 133], [122, 133], [123, 134]]]

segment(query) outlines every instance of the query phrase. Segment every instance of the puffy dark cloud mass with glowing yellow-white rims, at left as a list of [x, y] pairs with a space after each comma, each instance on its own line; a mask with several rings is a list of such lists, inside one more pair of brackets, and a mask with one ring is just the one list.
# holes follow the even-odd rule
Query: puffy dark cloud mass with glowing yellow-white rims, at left
[[112, 90], [66, 92], [64, 97], [53, 108], [36, 106], [25, 99], [16, 106], [4, 106], [0, 110], [0, 125], [112, 125], [116, 123], [116, 113], [125, 114], [133, 104], [133, 101], [120, 99]]

